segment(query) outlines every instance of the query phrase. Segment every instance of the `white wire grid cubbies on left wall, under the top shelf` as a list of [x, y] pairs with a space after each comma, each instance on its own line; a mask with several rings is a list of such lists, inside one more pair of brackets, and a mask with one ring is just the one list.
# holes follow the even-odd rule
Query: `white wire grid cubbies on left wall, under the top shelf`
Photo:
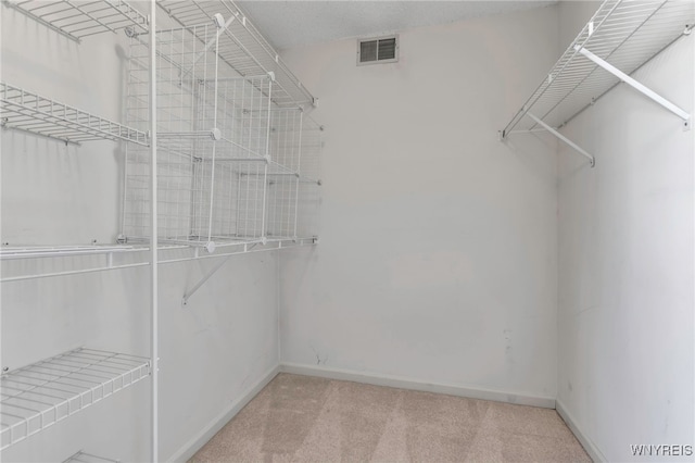
[[[187, 2], [186, 8], [200, 13], [208, 3]], [[169, 5], [179, 13], [184, 8]], [[210, 253], [218, 246], [270, 240], [315, 242], [311, 227], [298, 226], [298, 211], [300, 185], [320, 185], [314, 164], [321, 143], [309, 145], [320, 127], [304, 116], [299, 102], [278, 105], [275, 96], [282, 90], [274, 72], [240, 77], [224, 60], [220, 50], [229, 27], [240, 21], [236, 15], [226, 10], [227, 17], [215, 13], [212, 21], [198, 13], [178, 20], [203, 24], [155, 35], [160, 242]], [[149, 40], [131, 38], [127, 114], [134, 126], [146, 117]], [[122, 217], [128, 242], [147, 241], [149, 161], [146, 150], [128, 148]], [[306, 234], [298, 235], [298, 228]]]

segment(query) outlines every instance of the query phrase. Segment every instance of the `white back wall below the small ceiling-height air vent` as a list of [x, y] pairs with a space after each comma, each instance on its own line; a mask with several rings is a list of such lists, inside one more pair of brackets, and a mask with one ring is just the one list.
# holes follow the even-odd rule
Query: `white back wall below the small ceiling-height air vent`
[[508, 122], [555, 7], [287, 50], [326, 125], [320, 243], [281, 256], [283, 362], [554, 398], [556, 145]]

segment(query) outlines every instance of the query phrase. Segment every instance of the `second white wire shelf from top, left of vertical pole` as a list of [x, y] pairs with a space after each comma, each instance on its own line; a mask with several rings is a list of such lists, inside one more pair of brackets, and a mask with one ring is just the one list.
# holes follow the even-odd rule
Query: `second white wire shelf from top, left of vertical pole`
[[2, 126], [65, 142], [124, 140], [148, 146], [147, 133], [0, 83]]

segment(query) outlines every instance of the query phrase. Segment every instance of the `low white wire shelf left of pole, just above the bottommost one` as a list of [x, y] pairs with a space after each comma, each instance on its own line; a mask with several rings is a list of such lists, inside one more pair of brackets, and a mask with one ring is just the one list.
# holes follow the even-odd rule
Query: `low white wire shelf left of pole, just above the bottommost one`
[[3, 373], [0, 448], [20, 442], [149, 374], [149, 359], [83, 348]]

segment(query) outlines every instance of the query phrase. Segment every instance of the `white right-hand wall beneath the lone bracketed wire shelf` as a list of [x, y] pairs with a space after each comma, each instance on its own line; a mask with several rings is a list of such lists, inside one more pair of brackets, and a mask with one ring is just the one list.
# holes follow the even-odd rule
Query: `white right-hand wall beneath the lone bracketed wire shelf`
[[[563, 3], [563, 29], [592, 7]], [[635, 78], [692, 113], [693, 55], [691, 36]], [[601, 458], [648, 461], [630, 446], [695, 443], [694, 132], [621, 85], [564, 133], [596, 167], [560, 150], [558, 404]]]

